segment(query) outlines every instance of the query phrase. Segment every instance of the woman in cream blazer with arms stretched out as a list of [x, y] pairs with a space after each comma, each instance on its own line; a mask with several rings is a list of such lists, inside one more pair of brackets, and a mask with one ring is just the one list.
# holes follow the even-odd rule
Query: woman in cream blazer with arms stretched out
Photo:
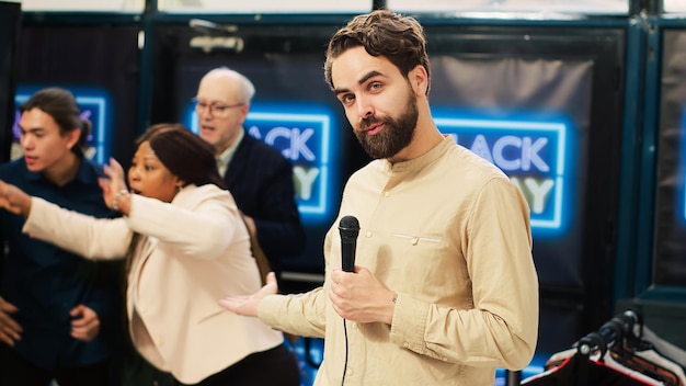
[[283, 334], [217, 302], [261, 281], [209, 145], [182, 125], [155, 125], [137, 140], [130, 191], [117, 161], [105, 174], [103, 197], [122, 218], [61, 209], [2, 182], [0, 205], [26, 216], [23, 230], [33, 237], [89, 259], [126, 257], [132, 341], [175, 384], [298, 385]]

